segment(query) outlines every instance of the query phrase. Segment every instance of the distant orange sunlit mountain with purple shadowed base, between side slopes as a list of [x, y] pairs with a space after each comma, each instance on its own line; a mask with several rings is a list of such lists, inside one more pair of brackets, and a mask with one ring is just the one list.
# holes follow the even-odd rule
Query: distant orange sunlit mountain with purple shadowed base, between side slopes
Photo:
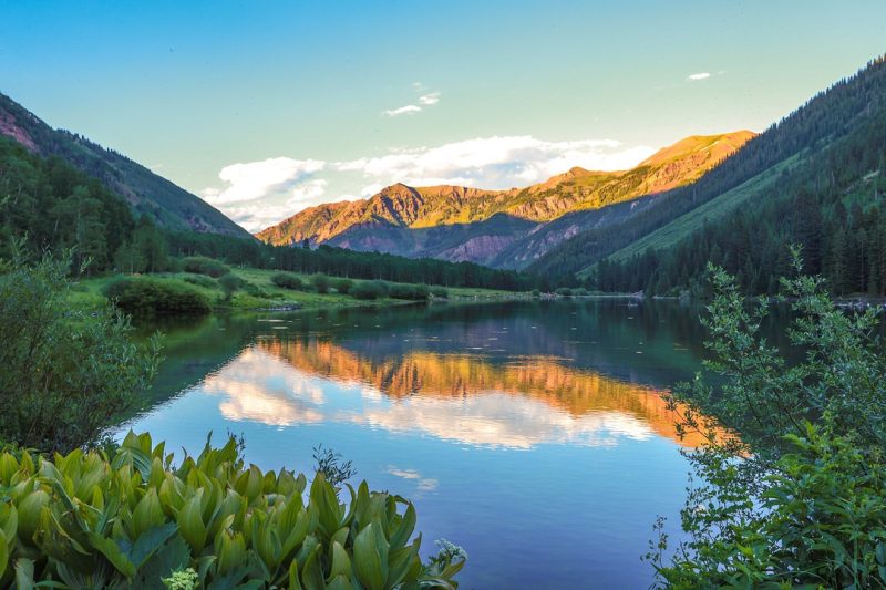
[[589, 224], [630, 213], [610, 206], [653, 196], [697, 180], [754, 137], [740, 131], [687, 137], [630, 170], [584, 168], [526, 188], [395, 184], [368, 199], [305, 209], [258, 238], [275, 245], [330, 244], [409, 257], [467, 260], [523, 268]]

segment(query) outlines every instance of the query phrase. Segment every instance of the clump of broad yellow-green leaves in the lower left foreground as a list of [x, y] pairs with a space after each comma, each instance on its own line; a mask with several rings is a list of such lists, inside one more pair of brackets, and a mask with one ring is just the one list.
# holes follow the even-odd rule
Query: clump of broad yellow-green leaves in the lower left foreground
[[1, 454], [0, 486], [14, 491], [0, 504], [0, 586], [14, 563], [19, 588], [456, 587], [463, 551], [422, 563], [412, 504], [365, 482], [348, 487], [350, 509], [322, 474], [306, 497], [303, 475], [247, 466], [234, 438], [175, 465], [132, 433], [110, 460]]

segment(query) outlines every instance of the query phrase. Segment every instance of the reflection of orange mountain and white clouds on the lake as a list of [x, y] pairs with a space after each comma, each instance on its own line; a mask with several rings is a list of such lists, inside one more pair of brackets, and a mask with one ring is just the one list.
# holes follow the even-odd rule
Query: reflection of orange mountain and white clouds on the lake
[[[320, 380], [339, 382], [347, 404], [327, 404]], [[220, 397], [226, 418], [276, 426], [351, 422], [512, 448], [655, 434], [698, 442], [679, 439], [661, 392], [545, 356], [495, 364], [413, 351], [374, 361], [330, 341], [266, 337], [207, 376], [203, 390]]]

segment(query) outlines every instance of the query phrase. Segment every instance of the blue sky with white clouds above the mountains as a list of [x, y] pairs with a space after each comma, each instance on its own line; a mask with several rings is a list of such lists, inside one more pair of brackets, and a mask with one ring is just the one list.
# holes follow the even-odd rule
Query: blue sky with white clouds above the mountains
[[762, 131], [883, 52], [883, 0], [4, 0], [0, 92], [259, 229]]

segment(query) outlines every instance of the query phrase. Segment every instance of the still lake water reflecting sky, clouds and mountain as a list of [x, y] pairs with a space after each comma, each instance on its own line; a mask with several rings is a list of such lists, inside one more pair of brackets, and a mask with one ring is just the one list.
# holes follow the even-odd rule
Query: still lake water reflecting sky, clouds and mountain
[[647, 588], [640, 556], [656, 516], [678, 532], [691, 444], [660, 392], [699, 369], [698, 317], [586, 300], [173, 323], [121, 432], [190, 452], [243, 434], [248, 462], [306, 474], [322, 443], [413, 500], [423, 552], [465, 548], [465, 589]]

